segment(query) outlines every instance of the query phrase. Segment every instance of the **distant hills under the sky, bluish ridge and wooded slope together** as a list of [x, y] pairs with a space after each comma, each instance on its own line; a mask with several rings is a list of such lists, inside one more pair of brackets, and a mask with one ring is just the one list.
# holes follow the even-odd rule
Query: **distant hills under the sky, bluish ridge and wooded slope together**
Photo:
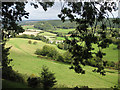
[[[109, 18], [109, 20], [104, 19], [107, 27], [114, 26], [115, 28], [120, 27], [120, 25], [114, 25], [112, 23], [113, 18]], [[55, 30], [56, 28], [62, 28], [62, 29], [70, 29], [70, 28], [76, 28], [77, 24], [75, 22], [70, 22], [69, 20], [66, 20], [64, 23], [61, 20], [24, 20], [22, 22], [19, 22], [20, 25], [34, 25], [34, 28], [41, 29], [41, 30]], [[97, 22], [97, 25], [101, 25], [101, 22]]]

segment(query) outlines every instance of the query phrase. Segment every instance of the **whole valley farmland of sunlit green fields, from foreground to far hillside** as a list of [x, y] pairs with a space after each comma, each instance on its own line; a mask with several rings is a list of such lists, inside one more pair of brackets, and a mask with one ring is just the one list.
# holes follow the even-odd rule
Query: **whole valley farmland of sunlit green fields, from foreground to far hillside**
[[[72, 39], [70, 36], [71, 32], [74, 32], [75, 30], [74, 24], [71, 26], [68, 21], [63, 24], [59, 20], [37, 21], [22, 24], [25, 32], [20, 33], [17, 37], [11, 38], [7, 41], [6, 47], [12, 46], [9, 58], [12, 58], [13, 61], [10, 65], [14, 71], [22, 74], [26, 82], [31, 75], [39, 77], [42, 67], [45, 65], [55, 74], [57, 83], [53, 88], [74, 88], [76, 86], [111, 88], [118, 85], [118, 70], [115, 67], [115, 65], [117, 65], [116, 63], [118, 63], [117, 44], [110, 44], [109, 47], [102, 50], [106, 53], [103, 60], [109, 62], [109, 65], [105, 68], [106, 76], [92, 72], [92, 70], [95, 69], [92, 65], [82, 66], [85, 70], [85, 74], [78, 74], [74, 70], [69, 69], [71, 66], [70, 63], [65, 62], [66, 60], [64, 58], [67, 49], [61, 49], [58, 47], [59, 44], [64, 44], [65, 37], [68, 37], [69, 40]], [[42, 27], [43, 25], [45, 26]], [[109, 29], [109, 27], [107, 27], [107, 29]], [[84, 43], [81, 45], [83, 44]], [[58, 59], [53, 59], [48, 56], [42, 56], [42, 54], [36, 55], [36, 50], [42, 50], [45, 45], [53, 47], [64, 60], [59, 61]], [[93, 51], [99, 50], [96, 44], [92, 44], [92, 46], [94, 48]], [[16, 85], [16, 88], [29, 88], [27, 84], [23, 83], [15, 83], [7, 80], [3, 80], [3, 82], [3, 87], [6, 87], [7, 84], [9, 84], [8, 87], [14, 87], [14, 85], [18, 84], [18, 86]]]

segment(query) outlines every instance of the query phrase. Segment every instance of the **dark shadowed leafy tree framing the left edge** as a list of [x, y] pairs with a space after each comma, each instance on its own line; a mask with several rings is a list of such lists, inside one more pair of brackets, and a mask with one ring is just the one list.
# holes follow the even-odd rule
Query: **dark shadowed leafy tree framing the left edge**
[[16, 22], [21, 21], [23, 16], [28, 18], [28, 13], [24, 10], [25, 4], [26, 3], [24, 2], [2, 2], [2, 43], [0, 44], [2, 45], [3, 57], [2, 76], [6, 79], [10, 78], [9, 76], [12, 73], [12, 67], [9, 66], [12, 59], [8, 58], [10, 47], [5, 48], [5, 44], [11, 34], [15, 36], [16, 34], [24, 31], [24, 29]]

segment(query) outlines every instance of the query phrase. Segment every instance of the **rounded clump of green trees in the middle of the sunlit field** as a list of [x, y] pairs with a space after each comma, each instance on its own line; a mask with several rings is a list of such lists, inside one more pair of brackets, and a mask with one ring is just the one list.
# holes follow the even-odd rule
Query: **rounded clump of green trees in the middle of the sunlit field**
[[72, 61], [72, 54], [69, 51], [66, 51], [63, 55], [60, 54], [54, 47], [45, 45], [42, 49], [36, 49], [36, 55], [42, 55], [50, 57], [59, 62], [70, 64]]

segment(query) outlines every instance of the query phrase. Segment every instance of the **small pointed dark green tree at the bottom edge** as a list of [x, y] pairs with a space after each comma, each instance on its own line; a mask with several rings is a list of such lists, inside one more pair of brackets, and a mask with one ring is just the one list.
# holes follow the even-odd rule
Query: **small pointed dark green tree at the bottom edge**
[[54, 73], [50, 72], [46, 66], [42, 67], [41, 82], [45, 90], [48, 90], [50, 87], [53, 87], [57, 82]]

